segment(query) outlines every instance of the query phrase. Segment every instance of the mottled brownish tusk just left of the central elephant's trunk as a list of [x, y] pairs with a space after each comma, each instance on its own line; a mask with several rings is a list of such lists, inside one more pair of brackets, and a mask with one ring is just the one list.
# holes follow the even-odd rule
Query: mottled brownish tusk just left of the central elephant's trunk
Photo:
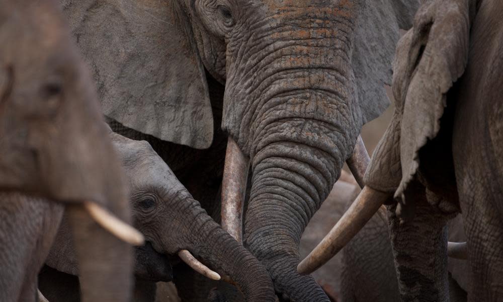
[[222, 180], [222, 228], [242, 242], [242, 216], [249, 160], [229, 137]]

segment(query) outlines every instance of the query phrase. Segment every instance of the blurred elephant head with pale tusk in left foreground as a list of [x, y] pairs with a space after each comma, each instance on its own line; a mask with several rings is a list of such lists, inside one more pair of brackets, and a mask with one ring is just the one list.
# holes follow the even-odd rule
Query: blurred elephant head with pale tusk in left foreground
[[67, 204], [85, 298], [126, 301], [130, 248], [104, 228], [142, 236], [118, 219], [130, 220], [122, 171], [57, 3], [1, 1], [0, 41], [0, 190]]

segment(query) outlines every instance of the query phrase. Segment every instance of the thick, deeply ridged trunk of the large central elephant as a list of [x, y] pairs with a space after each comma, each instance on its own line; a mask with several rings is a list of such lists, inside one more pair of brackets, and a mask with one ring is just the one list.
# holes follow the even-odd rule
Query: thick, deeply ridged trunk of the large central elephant
[[[263, 70], [255, 72], [265, 80], [242, 97], [256, 99], [243, 116], [243, 123], [250, 121], [249, 134], [230, 132], [249, 154], [253, 172], [245, 246], [266, 265], [282, 295], [328, 301], [314, 279], [299, 275], [296, 267], [300, 237], [339, 178], [361, 127], [348, 55], [353, 28], [342, 17], [317, 28], [299, 22], [285, 21], [287, 28], [275, 33], [284, 40], [257, 55], [263, 57], [258, 64]], [[233, 79], [226, 95], [237, 91], [240, 99]]]

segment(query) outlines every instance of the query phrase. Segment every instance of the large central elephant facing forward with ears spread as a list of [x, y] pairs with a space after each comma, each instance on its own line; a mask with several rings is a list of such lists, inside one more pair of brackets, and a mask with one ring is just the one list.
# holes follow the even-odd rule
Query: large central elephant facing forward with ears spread
[[[198, 171], [223, 159], [221, 116], [230, 137], [227, 166], [242, 166], [227, 169], [225, 184], [244, 187], [245, 177], [233, 172], [246, 171], [247, 159], [253, 175], [244, 245], [266, 265], [278, 292], [326, 301], [313, 278], [296, 272], [300, 236], [352, 155], [362, 124], [388, 105], [383, 86], [390, 83], [398, 29], [410, 26], [416, 1], [66, 0], [62, 6], [94, 69], [104, 113], [172, 148], [188, 146], [166, 162], [194, 176], [186, 183], [177, 174], [191, 192], [208, 189], [201, 195], [212, 201], [220, 178], [213, 187], [208, 180], [222, 167], [213, 175]], [[208, 147], [220, 147], [218, 156], [191, 158], [192, 148]], [[225, 184], [225, 196], [235, 190], [240, 197]], [[240, 208], [233, 212], [239, 218]], [[227, 218], [223, 225], [240, 239], [240, 220]]]

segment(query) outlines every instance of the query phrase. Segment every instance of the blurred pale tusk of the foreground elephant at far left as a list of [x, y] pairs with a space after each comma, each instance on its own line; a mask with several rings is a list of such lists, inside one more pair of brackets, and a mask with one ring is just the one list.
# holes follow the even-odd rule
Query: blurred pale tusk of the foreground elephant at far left
[[135, 246], [142, 246], [145, 243], [143, 235], [138, 230], [117, 218], [107, 209], [94, 202], [84, 202], [84, 208], [103, 229], [120, 240]]

